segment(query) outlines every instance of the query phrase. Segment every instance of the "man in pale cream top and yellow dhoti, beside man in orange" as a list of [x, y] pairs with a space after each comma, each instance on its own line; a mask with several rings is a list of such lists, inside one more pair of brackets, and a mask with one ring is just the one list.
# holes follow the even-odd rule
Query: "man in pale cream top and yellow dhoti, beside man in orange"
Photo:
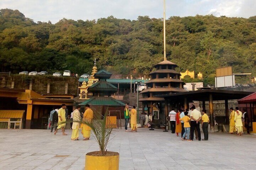
[[77, 121], [80, 121], [80, 110], [81, 106], [77, 106], [76, 110], [73, 111], [73, 124], [72, 124], [72, 135], [71, 135], [71, 140], [73, 141], [78, 141], [79, 139], [79, 127], [80, 123]]

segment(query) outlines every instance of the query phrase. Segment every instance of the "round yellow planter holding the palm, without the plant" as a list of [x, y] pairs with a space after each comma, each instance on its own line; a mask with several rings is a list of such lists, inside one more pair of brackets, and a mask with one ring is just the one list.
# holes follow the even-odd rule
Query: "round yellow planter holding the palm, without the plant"
[[85, 170], [119, 170], [119, 153], [109, 152], [113, 156], [92, 156], [99, 151], [85, 155]]

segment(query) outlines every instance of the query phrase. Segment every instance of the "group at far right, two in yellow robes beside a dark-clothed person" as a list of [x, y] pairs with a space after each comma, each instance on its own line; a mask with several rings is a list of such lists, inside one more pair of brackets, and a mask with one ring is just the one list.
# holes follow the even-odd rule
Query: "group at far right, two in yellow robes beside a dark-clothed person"
[[247, 130], [247, 134], [250, 134], [249, 117], [248, 113], [246, 112], [246, 109], [243, 109], [244, 113], [242, 113], [239, 110], [239, 107], [235, 107], [235, 110], [233, 109], [233, 107], [231, 107], [230, 112], [231, 113], [229, 116], [229, 133], [242, 136], [244, 127]]

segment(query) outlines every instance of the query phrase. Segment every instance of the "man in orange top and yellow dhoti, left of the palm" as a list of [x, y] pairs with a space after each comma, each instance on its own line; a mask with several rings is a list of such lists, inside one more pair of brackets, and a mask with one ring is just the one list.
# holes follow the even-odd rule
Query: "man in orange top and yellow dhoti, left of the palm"
[[[85, 109], [86, 110], [84, 112], [83, 120], [86, 120], [87, 122], [91, 123], [91, 121], [93, 119], [93, 110], [90, 109], [89, 104], [85, 105]], [[83, 141], [87, 141], [87, 140], [89, 140], [89, 138], [91, 136], [91, 128], [85, 124], [81, 124], [81, 126], [82, 126], [81, 134], [83, 134], [83, 136], [84, 136]]]

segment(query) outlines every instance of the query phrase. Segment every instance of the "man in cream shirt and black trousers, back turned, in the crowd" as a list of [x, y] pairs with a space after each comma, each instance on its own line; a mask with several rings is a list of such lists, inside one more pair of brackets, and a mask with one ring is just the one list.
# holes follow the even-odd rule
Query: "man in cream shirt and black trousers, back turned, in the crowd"
[[191, 107], [192, 112], [190, 113], [191, 118], [191, 140], [194, 139], [194, 130], [195, 128], [198, 131], [198, 141], [201, 141], [201, 132], [200, 132], [200, 123], [199, 121], [202, 118], [200, 111], [196, 110], [194, 106]]

